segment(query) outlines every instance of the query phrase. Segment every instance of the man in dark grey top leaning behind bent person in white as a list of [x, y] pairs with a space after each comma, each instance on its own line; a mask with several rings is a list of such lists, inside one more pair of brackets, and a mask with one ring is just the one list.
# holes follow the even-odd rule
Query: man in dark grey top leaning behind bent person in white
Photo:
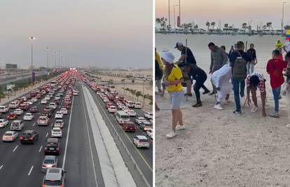
[[[219, 70], [221, 67], [223, 67], [226, 62], [228, 62], [228, 55], [226, 54], [226, 51], [223, 50], [222, 48], [219, 48], [216, 46], [214, 43], [210, 42], [209, 45], [209, 50], [211, 51], [210, 56], [211, 56], [211, 63], [209, 67], [209, 74], [214, 73], [214, 71]], [[216, 88], [214, 85], [212, 85], [212, 92], [209, 95], [214, 95], [216, 94]]]

